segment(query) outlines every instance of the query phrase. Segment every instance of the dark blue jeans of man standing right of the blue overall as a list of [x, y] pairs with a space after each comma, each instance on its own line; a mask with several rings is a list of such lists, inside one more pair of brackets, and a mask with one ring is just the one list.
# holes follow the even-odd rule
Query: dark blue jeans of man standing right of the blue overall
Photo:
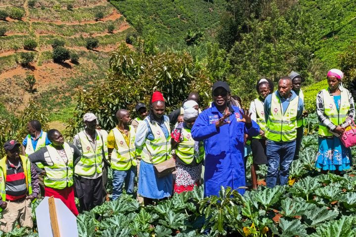
[[294, 158], [295, 149], [295, 140], [291, 142], [274, 142], [267, 140], [268, 169], [266, 184], [268, 188], [276, 186], [278, 176], [280, 185], [287, 184], [289, 168]]

